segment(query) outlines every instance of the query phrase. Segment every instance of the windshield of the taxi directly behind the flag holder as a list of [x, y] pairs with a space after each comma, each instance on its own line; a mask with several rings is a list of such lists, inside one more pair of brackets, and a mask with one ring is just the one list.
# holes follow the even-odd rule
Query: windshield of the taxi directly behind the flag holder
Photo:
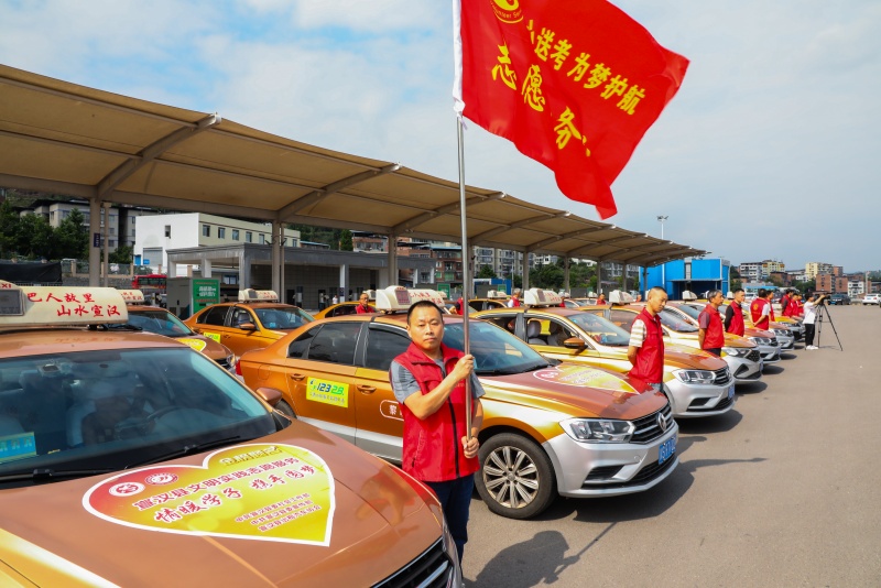
[[[463, 350], [463, 324], [444, 325], [444, 344]], [[468, 323], [468, 345], [475, 356], [475, 371], [478, 375], [502, 375], [522, 373], [546, 368], [548, 362], [529, 345], [510, 333], [489, 323], [471, 320]]]

